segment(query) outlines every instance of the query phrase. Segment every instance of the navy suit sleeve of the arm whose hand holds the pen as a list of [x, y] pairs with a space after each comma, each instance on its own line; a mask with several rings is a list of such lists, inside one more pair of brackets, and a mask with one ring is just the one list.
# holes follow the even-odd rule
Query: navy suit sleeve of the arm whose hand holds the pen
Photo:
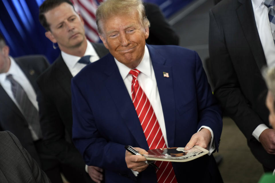
[[71, 85], [72, 139], [76, 148], [82, 154], [87, 165], [98, 166], [118, 174], [133, 176], [125, 162], [125, 145], [107, 141], [103, 137], [104, 134], [99, 133], [93, 111], [77, 83], [75, 78], [73, 78]]

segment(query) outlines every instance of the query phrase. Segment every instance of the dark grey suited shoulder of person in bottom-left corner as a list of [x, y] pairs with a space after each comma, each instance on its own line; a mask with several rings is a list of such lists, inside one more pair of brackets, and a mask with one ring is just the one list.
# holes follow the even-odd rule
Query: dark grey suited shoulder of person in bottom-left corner
[[0, 132], [0, 182], [50, 183], [37, 162], [11, 132]]

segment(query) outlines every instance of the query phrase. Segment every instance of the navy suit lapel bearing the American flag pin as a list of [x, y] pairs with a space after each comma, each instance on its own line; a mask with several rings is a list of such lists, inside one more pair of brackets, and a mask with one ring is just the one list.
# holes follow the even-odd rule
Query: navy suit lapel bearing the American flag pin
[[[166, 59], [152, 48], [147, 45], [154, 73], [158, 86], [158, 93], [160, 94], [160, 102], [162, 106], [162, 112], [165, 121], [166, 136], [169, 147], [174, 147], [174, 135], [176, 126], [176, 114], [175, 114], [175, 100], [174, 100], [174, 89], [173, 89], [173, 75], [172, 67], [166, 66]], [[169, 77], [164, 77], [163, 72], [169, 74]]]

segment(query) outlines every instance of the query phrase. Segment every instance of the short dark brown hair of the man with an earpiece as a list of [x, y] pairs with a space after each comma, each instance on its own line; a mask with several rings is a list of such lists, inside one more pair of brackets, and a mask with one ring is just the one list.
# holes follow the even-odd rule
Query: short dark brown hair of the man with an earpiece
[[39, 15], [38, 15], [39, 22], [46, 29], [46, 31], [50, 31], [50, 25], [48, 24], [44, 14], [50, 11], [51, 9], [58, 7], [62, 3], [68, 3], [72, 5], [72, 7], [74, 8], [74, 5], [69, 0], [46, 0], [39, 7]]

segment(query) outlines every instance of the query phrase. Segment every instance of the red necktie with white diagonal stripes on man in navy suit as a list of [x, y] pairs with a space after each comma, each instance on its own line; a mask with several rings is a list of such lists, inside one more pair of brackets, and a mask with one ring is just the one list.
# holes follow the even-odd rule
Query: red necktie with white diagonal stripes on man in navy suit
[[[131, 94], [137, 116], [140, 120], [149, 149], [166, 148], [154, 110], [137, 81], [137, 75], [139, 73], [140, 71], [137, 69], [131, 69], [129, 72], [129, 74], [133, 77]], [[160, 168], [160, 170], [156, 170], [158, 183], [177, 182], [171, 162], [157, 161], [155, 164]]]

